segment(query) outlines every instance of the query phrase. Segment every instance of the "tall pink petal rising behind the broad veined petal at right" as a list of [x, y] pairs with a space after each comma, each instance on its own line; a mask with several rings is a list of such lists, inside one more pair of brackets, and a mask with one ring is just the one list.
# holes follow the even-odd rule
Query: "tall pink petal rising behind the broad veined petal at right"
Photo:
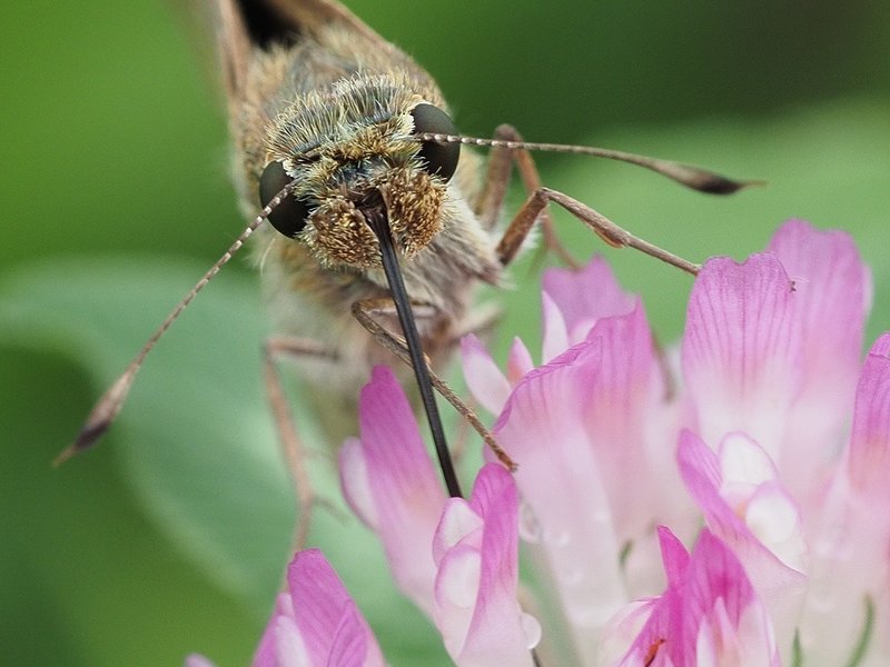
[[818, 496], [849, 430], [871, 305], [871, 276], [850, 236], [789, 220], [769, 245], [794, 281], [804, 359], [779, 468], [804, 501]]

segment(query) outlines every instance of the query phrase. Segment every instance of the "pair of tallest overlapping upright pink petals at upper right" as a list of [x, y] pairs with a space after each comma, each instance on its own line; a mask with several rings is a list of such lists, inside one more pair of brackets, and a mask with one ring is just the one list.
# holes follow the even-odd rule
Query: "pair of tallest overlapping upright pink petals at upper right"
[[871, 278], [847, 235], [799, 220], [769, 250], [713, 259], [695, 281], [682, 346], [691, 426], [711, 447], [748, 434], [809, 501], [849, 430]]

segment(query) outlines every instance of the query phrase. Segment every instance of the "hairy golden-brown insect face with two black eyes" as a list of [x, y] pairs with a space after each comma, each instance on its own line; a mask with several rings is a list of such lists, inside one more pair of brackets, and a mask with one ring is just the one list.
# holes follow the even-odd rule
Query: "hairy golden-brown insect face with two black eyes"
[[451, 118], [392, 77], [337, 81], [275, 118], [270, 160], [259, 176], [265, 206], [287, 182], [293, 193], [269, 217], [326, 268], [380, 267], [369, 216], [383, 215], [397, 250], [412, 259], [443, 230], [448, 180], [459, 145], [419, 142], [419, 132], [454, 133]]

